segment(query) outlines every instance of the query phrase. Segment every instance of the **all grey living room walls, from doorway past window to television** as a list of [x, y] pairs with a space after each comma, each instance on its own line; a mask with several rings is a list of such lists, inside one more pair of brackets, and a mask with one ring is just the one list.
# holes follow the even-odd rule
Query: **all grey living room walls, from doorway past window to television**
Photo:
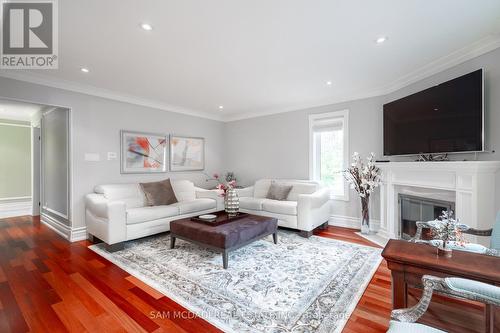
[[[432, 84], [451, 79], [477, 68], [486, 76], [486, 138], [488, 149], [500, 149], [500, 49], [454, 68], [443, 71], [386, 96], [276, 114], [247, 120], [221, 123], [197, 117], [121, 103], [62, 89], [0, 78], [0, 97], [29, 102], [66, 106], [72, 109], [72, 221], [74, 227], [84, 225], [86, 193], [96, 184], [153, 181], [168, 176], [188, 178], [207, 186], [203, 174], [121, 175], [119, 158], [106, 160], [107, 152], [119, 154], [121, 129], [176, 133], [206, 138], [206, 171], [234, 171], [242, 184], [258, 178], [308, 178], [308, 115], [350, 110], [350, 152], [363, 155], [382, 152], [382, 105]], [[86, 152], [98, 153], [99, 162], [84, 161]], [[474, 156], [457, 155], [456, 158]], [[499, 153], [479, 154], [479, 159], [498, 160]], [[359, 216], [359, 202], [351, 193], [350, 201], [333, 203], [333, 213]], [[373, 200], [374, 218], [378, 218], [377, 198]]]

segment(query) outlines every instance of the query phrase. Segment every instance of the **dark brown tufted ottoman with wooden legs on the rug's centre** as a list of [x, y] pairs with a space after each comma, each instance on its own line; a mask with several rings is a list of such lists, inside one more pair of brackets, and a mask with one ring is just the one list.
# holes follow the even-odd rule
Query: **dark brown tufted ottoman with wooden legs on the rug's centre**
[[208, 247], [222, 253], [223, 267], [228, 266], [228, 254], [261, 238], [273, 235], [278, 243], [278, 220], [272, 217], [242, 214], [228, 218], [225, 212], [217, 212], [215, 222], [203, 222], [186, 218], [170, 222], [170, 248], [176, 238]]

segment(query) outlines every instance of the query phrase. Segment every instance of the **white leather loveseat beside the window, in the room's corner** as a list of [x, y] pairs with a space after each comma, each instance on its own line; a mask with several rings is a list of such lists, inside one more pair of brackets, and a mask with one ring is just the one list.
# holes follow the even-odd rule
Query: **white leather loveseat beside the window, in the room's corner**
[[[286, 201], [266, 199], [271, 182], [291, 185]], [[237, 190], [240, 211], [278, 219], [278, 225], [297, 229], [309, 237], [313, 229], [326, 226], [330, 218], [330, 191], [307, 180], [261, 179], [255, 185]]]

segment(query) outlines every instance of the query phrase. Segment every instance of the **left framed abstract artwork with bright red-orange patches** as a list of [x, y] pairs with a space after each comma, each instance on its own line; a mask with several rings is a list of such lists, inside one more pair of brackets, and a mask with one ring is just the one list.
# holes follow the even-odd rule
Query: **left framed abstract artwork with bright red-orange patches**
[[121, 173], [167, 171], [167, 136], [121, 131]]

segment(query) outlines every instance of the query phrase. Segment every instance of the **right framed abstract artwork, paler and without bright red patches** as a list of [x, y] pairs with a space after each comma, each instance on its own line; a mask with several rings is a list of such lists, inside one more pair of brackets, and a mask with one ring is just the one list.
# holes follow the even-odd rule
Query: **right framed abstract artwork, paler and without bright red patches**
[[170, 136], [170, 171], [205, 169], [205, 139]]

